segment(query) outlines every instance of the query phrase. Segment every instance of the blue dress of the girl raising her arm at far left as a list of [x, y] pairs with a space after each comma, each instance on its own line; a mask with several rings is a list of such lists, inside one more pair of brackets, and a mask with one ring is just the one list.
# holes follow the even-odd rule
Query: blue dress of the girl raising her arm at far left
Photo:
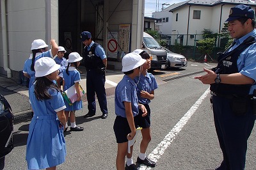
[[[42, 57], [52, 58], [53, 56], [52, 56], [51, 50], [48, 50], [43, 53], [37, 52], [35, 56], [35, 61]], [[32, 58], [33, 58], [33, 54], [30, 54], [29, 58], [25, 61], [24, 67], [23, 67], [23, 73], [28, 73], [28, 75], [30, 76], [28, 88], [31, 88], [32, 84], [35, 82], [35, 79], [36, 79], [35, 72], [31, 70]]]

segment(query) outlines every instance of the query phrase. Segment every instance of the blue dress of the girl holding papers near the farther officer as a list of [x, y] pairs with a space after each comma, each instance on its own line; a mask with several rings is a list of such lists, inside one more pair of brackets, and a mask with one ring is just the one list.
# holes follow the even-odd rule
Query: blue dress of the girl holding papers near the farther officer
[[[69, 66], [68, 67], [69, 75], [67, 75], [66, 70], [63, 70], [62, 73], [63, 73], [63, 79], [65, 81], [65, 86], [63, 87], [63, 91], [65, 91], [66, 89], [73, 86], [76, 82], [81, 81], [80, 73], [78, 72], [78, 70], [74, 66]], [[64, 102], [65, 102], [65, 105], [67, 107], [65, 109], [65, 111], [77, 111], [77, 110], [82, 109], [82, 107], [83, 107], [82, 100], [79, 101], [79, 102], [74, 102], [73, 105], [69, 105], [66, 100], [64, 100]]]

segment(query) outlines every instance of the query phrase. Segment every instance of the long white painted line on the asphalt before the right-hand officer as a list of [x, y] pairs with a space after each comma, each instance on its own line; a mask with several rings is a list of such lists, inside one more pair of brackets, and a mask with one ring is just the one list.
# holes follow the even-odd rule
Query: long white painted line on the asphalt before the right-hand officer
[[[189, 109], [186, 114], [179, 120], [179, 122], [172, 128], [172, 130], [164, 137], [161, 143], [157, 144], [157, 147], [148, 155], [150, 160], [157, 162], [157, 160], [164, 154], [164, 151], [168, 148], [168, 146], [173, 142], [176, 135], [179, 134], [180, 130], [186, 125], [188, 120], [193, 116], [196, 109], [198, 109], [199, 105], [202, 104], [203, 100], [210, 93], [210, 88], [208, 88], [204, 94], [195, 102], [195, 104]], [[140, 170], [148, 170], [151, 167], [147, 167], [141, 164]]]

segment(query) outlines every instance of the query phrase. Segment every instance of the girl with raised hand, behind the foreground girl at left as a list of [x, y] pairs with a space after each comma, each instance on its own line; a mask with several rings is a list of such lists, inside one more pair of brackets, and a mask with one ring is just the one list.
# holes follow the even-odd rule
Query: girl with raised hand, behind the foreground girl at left
[[36, 39], [31, 43], [32, 54], [24, 63], [23, 74], [29, 79], [29, 88], [35, 82], [35, 61], [42, 57], [53, 58], [58, 52], [58, 45], [55, 40], [51, 40], [52, 49], [47, 51], [48, 45], [44, 40]]

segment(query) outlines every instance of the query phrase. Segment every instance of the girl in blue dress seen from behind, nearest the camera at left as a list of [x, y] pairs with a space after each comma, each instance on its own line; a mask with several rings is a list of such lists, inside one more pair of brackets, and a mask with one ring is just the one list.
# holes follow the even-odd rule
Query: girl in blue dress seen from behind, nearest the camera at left
[[35, 62], [36, 81], [29, 89], [34, 116], [29, 125], [26, 161], [28, 169], [56, 169], [65, 162], [66, 146], [63, 130], [66, 108], [60, 89], [53, 82], [58, 68], [51, 58]]

